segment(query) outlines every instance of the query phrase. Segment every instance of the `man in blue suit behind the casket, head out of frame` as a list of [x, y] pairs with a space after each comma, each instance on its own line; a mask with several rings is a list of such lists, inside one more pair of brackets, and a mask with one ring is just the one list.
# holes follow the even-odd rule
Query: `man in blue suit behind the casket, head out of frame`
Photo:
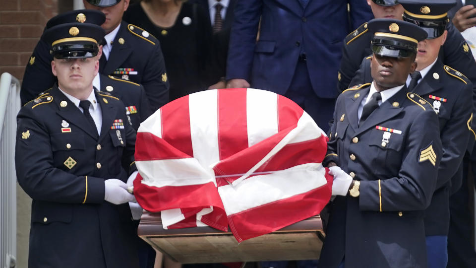
[[237, 1], [227, 87], [287, 96], [327, 131], [338, 95], [342, 40], [371, 17], [362, 0]]

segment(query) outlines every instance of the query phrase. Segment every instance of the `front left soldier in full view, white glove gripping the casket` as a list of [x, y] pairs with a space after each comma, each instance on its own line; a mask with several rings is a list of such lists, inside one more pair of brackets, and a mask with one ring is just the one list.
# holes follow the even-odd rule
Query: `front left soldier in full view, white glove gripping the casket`
[[15, 150], [18, 183], [33, 199], [30, 268], [138, 267], [125, 183], [137, 172], [135, 133], [122, 102], [92, 85], [104, 34], [76, 22], [42, 36], [58, 83], [21, 108]]

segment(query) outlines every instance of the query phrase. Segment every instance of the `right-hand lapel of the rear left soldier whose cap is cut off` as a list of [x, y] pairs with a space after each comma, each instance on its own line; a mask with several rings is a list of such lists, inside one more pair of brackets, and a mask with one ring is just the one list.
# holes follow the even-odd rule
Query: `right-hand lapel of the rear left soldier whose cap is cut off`
[[[132, 53], [132, 47], [130, 47], [129, 40], [127, 40], [127, 24], [122, 21], [120, 23], [119, 31], [113, 42], [113, 49], [109, 54], [109, 60], [104, 67], [103, 74], [112, 74], [118, 67], [125, 62], [127, 57]], [[119, 43], [119, 38], [124, 40], [123, 44]]]

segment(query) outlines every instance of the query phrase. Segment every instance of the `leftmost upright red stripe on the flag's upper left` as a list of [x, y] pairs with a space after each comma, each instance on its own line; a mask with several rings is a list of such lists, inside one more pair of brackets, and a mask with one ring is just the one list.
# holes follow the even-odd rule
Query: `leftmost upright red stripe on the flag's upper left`
[[164, 105], [161, 111], [162, 138], [180, 151], [193, 157], [188, 95]]

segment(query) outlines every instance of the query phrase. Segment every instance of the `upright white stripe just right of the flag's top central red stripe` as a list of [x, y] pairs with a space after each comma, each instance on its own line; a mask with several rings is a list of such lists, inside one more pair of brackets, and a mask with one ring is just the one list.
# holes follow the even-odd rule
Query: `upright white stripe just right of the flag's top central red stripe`
[[278, 133], [278, 95], [248, 88], [246, 90], [248, 147]]

